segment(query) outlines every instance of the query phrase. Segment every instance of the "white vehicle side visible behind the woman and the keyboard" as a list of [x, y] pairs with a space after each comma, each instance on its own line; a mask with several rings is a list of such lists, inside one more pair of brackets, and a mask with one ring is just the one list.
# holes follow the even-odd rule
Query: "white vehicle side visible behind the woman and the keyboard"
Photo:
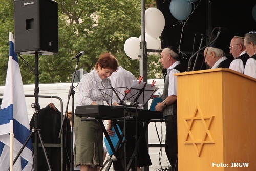
[[[153, 80], [148, 80], [148, 83], [151, 83]], [[159, 92], [163, 90], [163, 80], [162, 79], [155, 79], [155, 85], [158, 86], [159, 90], [155, 93], [155, 95], [159, 95]], [[76, 96], [78, 93], [78, 88], [76, 87], [78, 83], [74, 83], [73, 86], [75, 95], [74, 95], [74, 105], [76, 104]], [[71, 87], [71, 83], [48, 83], [48, 84], [39, 84], [39, 98], [38, 103], [40, 108], [45, 108], [49, 103], [54, 103], [55, 107], [62, 111], [63, 113], [66, 110], [66, 106], [68, 103], [68, 94]], [[0, 94], [4, 93], [4, 86], [0, 86]], [[25, 100], [27, 104], [28, 116], [29, 120], [31, 120], [34, 109], [31, 105], [35, 102], [34, 95], [34, 84], [24, 85], [24, 94]], [[31, 96], [31, 97], [26, 97]], [[0, 99], [3, 98], [3, 95], [0, 95]], [[151, 101], [148, 101], [148, 108], [151, 104]], [[68, 111], [71, 111], [72, 108], [72, 96], [70, 97]], [[156, 125], [155, 125], [156, 124]], [[158, 131], [158, 133], [157, 133]], [[150, 146], [159, 146], [160, 142], [164, 144], [165, 140], [165, 123], [164, 122], [151, 122], [148, 125], [148, 144]], [[159, 135], [159, 137], [158, 137]], [[159, 147], [150, 147], [149, 148], [150, 158], [152, 161], [152, 166], [150, 166], [150, 170], [158, 169], [162, 166], [162, 168], [168, 168], [168, 159], [165, 155], [164, 148]], [[160, 159], [160, 161], [159, 161]], [[160, 164], [161, 162], [161, 164]]]

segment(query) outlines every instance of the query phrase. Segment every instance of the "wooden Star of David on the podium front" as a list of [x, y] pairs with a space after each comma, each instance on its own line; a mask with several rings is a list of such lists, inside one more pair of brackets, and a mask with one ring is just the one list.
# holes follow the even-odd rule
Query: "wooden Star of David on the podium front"
[[210, 133], [210, 125], [214, 116], [203, 116], [200, 106], [197, 105], [192, 117], [183, 117], [187, 128], [185, 144], [193, 144], [200, 157], [204, 144], [214, 144]]

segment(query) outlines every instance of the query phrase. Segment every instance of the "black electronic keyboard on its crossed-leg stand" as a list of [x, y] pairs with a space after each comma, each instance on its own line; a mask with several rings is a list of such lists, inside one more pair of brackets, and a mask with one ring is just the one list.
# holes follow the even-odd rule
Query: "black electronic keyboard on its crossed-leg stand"
[[[129, 171], [134, 158], [135, 158], [135, 165], [137, 165], [137, 162], [136, 162], [137, 148], [138, 148], [139, 144], [141, 143], [141, 140], [143, 138], [142, 136], [144, 136], [144, 134], [148, 128], [148, 124], [150, 122], [164, 122], [165, 120], [162, 118], [162, 113], [158, 112], [158, 111], [148, 111], [148, 110], [141, 110], [141, 109], [137, 110], [134, 108], [130, 109], [130, 108], [124, 108], [124, 106], [118, 106], [119, 108], [115, 108], [115, 107], [112, 108], [111, 106], [101, 106], [101, 105], [78, 106], [76, 108], [76, 116], [81, 117], [81, 121], [94, 120], [94, 121], [99, 122], [99, 124], [102, 128], [102, 131], [106, 137], [106, 140], [108, 141], [110, 148], [113, 152], [113, 156], [114, 156], [114, 157], [112, 156], [112, 158], [110, 157], [110, 161], [105, 170], [109, 170], [113, 163], [113, 159], [117, 159], [116, 162], [117, 162], [119, 168], [121, 170]], [[129, 116], [127, 116], [127, 113]], [[90, 118], [88, 118], [88, 117], [90, 117]], [[110, 139], [110, 136], [108, 135], [108, 132], [106, 132], [105, 126], [103, 124], [103, 120], [112, 120], [112, 124], [114, 126], [115, 133], [119, 139], [116, 147], [114, 147], [114, 145]], [[122, 134], [120, 134], [119, 130], [117, 129], [116, 124], [118, 122], [123, 122]], [[140, 133], [140, 135], [137, 135], [137, 133], [136, 133], [136, 135], [137, 135], [136, 137], [138, 137], [138, 139], [136, 140], [137, 143], [136, 143], [133, 154], [129, 161], [127, 161], [127, 159], [126, 159], [126, 139], [123, 140], [123, 137], [125, 137], [125, 130], [127, 127], [127, 125], [126, 125], [127, 122], [136, 122], [136, 124], [137, 124], [137, 122], [144, 122], [143, 129], [142, 129], [142, 132]], [[126, 159], [126, 160], [124, 160], [124, 162], [122, 162], [119, 154], [117, 153], [120, 145], [124, 146], [124, 159]], [[126, 161], [128, 163], [126, 163]]]

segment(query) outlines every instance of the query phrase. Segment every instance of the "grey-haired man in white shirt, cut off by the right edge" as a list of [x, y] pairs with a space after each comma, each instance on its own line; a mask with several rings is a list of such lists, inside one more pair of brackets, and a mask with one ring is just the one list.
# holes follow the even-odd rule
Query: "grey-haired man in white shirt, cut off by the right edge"
[[250, 31], [244, 36], [245, 52], [250, 56], [247, 60], [244, 74], [256, 78], [256, 31]]

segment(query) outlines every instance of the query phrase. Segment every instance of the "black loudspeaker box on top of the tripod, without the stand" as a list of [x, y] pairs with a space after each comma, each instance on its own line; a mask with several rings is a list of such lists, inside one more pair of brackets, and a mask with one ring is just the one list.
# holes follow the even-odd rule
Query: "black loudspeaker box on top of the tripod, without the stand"
[[52, 0], [14, 1], [16, 53], [58, 53], [58, 3]]

